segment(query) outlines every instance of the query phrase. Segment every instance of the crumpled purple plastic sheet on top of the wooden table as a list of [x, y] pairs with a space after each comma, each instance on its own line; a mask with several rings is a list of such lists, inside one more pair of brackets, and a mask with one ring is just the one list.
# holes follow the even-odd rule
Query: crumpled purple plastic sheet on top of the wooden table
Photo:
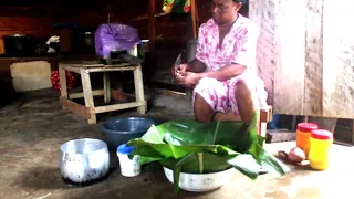
[[105, 56], [112, 51], [128, 51], [142, 41], [133, 27], [119, 23], [101, 24], [95, 32], [95, 50]]

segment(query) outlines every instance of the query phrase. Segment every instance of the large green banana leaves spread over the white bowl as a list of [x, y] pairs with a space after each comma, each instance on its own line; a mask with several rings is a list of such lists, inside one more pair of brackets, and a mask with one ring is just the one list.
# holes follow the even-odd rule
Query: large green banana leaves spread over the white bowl
[[264, 137], [257, 134], [258, 114], [249, 124], [181, 119], [153, 125], [142, 138], [128, 142], [135, 146], [131, 157], [139, 155], [140, 165], [159, 161], [174, 170], [175, 192], [180, 172], [210, 174], [235, 167], [254, 180], [262, 166], [282, 176], [288, 168], [263, 149]]

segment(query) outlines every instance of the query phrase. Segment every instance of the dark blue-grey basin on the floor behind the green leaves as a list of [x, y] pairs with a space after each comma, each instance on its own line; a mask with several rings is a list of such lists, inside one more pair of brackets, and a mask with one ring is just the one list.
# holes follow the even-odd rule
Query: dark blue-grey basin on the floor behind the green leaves
[[118, 147], [131, 139], [142, 137], [156, 122], [148, 117], [112, 118], [102, 125], [110, 147]]

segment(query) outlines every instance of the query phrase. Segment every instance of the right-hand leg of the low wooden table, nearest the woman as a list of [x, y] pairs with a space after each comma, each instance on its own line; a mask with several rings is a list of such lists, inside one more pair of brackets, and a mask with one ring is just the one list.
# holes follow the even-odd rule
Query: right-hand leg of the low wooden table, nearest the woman
[[[136, 102], [145, 101], [144, 97], [144, 85], [143, 85], [143, 74], [142, 74], [142, 65], [137, 66], [134, 70], [134, 86], [135, 86], [135, 97]], [[142, 115], [146, 112], [146, 103], [145, 106], [139, 106], [137, 112]]]

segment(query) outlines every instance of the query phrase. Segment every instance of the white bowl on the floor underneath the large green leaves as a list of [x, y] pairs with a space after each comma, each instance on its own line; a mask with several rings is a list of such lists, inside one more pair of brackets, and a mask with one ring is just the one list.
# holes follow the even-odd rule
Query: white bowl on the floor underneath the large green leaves
[[[218, 189], [230, 181], [235, 168], [212, 174], [186, 174], [180, 172], [179, 188], [191, 192], [206, 192]], [[174, 184], [174, 171], [164, 167], [166, 178]]]

